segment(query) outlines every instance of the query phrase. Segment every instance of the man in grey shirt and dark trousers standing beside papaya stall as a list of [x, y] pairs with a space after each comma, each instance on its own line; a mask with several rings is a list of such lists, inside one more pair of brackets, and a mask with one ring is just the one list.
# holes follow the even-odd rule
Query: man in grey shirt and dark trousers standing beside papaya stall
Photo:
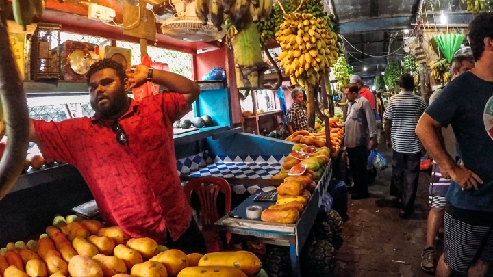
[[368, 194], [368, 148], [377, 147], [377, 122], [375, 112], [366, 98], [359, 95], [359, 89], [355, 83], [349, 83], [344, 89], [344, 94], [349, 101], [347, 112], [346, 135], [344, 145], [349, 158], [349, 166], [353, 175], [354, 189], [351, 199], [364, 199]]

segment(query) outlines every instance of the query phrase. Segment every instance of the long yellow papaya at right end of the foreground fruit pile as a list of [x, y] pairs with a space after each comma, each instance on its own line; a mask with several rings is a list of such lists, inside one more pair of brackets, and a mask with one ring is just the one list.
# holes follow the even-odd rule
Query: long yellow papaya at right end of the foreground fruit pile
[[[292, 208], [294, 209], [294, 208]], [[264, 210], [270, 211], [270, 210]], [[296, 209], [294, 209], [296, 211]], [[297, 213], [298, 211], [296, 211]], [[199, 261], [199, 267], [236, 267], [247, 276], [253, 276], [262, 269], [262, 262], [248, 251], [214, 252], [205, 254]], [[216, 275], [217, 276], [217, 275]]]

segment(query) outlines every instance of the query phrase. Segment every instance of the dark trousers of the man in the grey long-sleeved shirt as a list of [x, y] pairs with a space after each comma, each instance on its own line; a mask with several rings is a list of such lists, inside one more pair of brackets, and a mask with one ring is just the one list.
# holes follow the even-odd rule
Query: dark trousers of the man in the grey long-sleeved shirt
[[346, 148], [349, 158], [349, 167], [353, 175], [355, 194], [368, 194], [368, 171], [366, 163], [368, 161], [368, 148], [366, 146]]

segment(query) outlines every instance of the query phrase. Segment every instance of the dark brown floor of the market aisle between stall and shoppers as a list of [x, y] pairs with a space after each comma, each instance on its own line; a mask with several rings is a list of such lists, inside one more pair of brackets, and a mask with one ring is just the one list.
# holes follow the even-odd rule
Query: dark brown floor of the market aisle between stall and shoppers
[[[399, 209], [379, 207], [375, 202], [389, 194], [392, 153], [385, 156], [389, 168], [379, 172], [370, 186], [371, 197], [349, 200], [349, 220], [342, 233], [344, 244], [336, 254], [337, 277], [430, 276], [420, 267], [428, 215], [428, 175], [420, 173], [415, 213], [403, 220], [399, 218]], [[442, 248], [443, 244], [438, 243], [440, 254]]]

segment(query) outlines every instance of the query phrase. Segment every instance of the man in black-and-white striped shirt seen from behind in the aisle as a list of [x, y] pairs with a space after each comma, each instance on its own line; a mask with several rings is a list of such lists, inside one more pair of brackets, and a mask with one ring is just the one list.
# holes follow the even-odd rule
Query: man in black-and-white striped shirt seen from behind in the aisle
[[383, 114], [387, 148], [394, 149], [390, 194], [401, 198], [399, 217], [414, 212], [421, 161], [421, 142], [414, 129], [425, 111], [425, 101], [414, 95], [414, 77], [404, 74], [399, 79], [401, 92], [390, 98]]

